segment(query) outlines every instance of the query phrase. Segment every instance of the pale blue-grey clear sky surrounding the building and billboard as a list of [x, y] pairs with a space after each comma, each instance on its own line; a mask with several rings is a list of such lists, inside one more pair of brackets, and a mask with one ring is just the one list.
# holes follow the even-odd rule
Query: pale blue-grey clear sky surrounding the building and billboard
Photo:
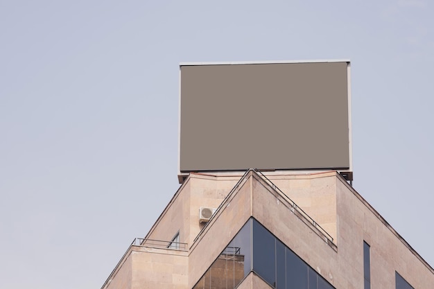
[[179, 184], [180, 62], [351, 60], [354, 188], [434, 265], [434, 6], [0, 1], [0, 288], [101, 288]]

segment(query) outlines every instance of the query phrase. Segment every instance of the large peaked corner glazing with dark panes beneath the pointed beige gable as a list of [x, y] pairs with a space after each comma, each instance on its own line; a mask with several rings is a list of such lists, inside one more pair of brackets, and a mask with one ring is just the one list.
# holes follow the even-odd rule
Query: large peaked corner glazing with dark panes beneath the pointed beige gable
[[333, 289], [254, 218], [245, 223], [193, 289], [234, 289], [250, 271], [276, 289]]

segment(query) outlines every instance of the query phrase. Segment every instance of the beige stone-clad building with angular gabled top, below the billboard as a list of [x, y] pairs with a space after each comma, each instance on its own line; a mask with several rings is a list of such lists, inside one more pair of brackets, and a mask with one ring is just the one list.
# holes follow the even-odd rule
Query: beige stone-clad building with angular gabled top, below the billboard
[[336, 171], [190, 173], [102, 287], [138, 288], [433, 289], [434, 270]]

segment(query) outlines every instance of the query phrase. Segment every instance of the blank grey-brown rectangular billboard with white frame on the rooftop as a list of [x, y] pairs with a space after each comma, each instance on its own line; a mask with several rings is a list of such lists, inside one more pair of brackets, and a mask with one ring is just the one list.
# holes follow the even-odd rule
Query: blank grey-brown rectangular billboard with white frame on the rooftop
[[349, 62], [180, 65], [180, 172], [351, 169]]

